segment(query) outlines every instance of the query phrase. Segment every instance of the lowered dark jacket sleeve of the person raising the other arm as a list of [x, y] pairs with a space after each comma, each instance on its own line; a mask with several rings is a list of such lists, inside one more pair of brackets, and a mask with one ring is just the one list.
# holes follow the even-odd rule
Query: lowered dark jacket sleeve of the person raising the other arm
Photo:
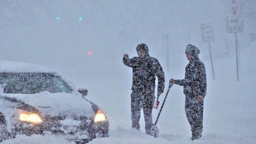
[[159, 61], [156, 61], [156, 76], [158, 79], [157, 92], [164, 93], [164, 70]]

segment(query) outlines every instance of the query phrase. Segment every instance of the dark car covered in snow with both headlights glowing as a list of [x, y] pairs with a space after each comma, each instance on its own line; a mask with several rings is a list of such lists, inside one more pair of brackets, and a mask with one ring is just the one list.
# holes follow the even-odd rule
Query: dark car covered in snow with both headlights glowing
[[108, 119], [87, 93], [37, 65], [0, 61], [0, 141], [33, 134], [76, 143], [108, 137]]

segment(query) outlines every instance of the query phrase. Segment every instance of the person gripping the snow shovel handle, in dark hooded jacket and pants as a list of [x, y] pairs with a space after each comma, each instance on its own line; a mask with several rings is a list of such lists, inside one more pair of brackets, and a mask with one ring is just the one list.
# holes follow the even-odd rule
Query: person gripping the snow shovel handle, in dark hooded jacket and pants
[[195, 45], [188, 44], [185, 53], [189, 60], [185, 78], [182, 80], [170, 79], [170, 82], [184, 88], [183, 92], [186, 95], [185, 111], [192, 131], [191, 140], [195, 140], [200, 139], [203, 132], [206, 72], [204, 63], [198, 57], [200, 50]]

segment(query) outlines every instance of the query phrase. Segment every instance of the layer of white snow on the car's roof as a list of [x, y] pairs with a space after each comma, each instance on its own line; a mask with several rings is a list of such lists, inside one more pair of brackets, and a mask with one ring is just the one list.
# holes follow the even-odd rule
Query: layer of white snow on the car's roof
[[50, 72], [56, 73], [40, 65], [0, 60], [0, 72]]

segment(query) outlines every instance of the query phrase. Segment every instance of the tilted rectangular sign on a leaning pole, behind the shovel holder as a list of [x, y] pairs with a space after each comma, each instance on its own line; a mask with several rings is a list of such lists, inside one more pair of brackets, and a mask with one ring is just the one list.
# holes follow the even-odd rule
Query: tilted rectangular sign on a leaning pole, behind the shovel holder
[[208, 45], [209, 45], [210, 60], [212, 65], [212, 77], [214, 80], [215, 76], [214, 76], [214, 68], [213, 68], [213, 62], [212, 62], [212, 50], [211, 50], [211, 44], [210, 44], [211, 41], [212, 42], [214, 41], [214, 31], [213, 31], [212, 23], [201, 24], [201, 29], [202, 29], [202, 35], [203, 35], [203, 42], [208, 42]]

